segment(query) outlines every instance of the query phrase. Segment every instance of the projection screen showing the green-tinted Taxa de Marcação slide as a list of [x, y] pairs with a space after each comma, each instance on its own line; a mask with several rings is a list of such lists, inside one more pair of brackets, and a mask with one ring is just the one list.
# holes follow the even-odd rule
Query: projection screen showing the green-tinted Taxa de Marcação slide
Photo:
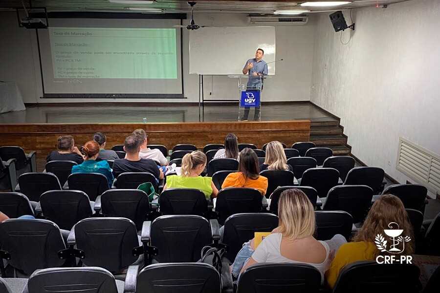
[[183, 98], [180, 20], [51, 19], [44, 97]]

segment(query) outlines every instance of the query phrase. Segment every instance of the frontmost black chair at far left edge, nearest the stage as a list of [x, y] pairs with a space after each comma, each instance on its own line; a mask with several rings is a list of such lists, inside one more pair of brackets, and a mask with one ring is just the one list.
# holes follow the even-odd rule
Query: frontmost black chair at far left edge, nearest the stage
[[0, 146], [0, 158], [3, 161], [16, 159], [15, 170], [17, 177], [25, 172], [37, 172], [37, 152], [28, 154], [20, 146]]

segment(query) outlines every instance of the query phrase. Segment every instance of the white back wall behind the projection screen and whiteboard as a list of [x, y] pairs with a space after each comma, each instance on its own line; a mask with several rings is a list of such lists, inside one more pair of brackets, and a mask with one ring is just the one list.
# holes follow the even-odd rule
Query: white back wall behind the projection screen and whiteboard
[[[246, 26], [245, 14], [195, 14], [199, 25]], [[185, 20], [186, 24], [189, 20]], [[306, 26], [276, 27], [276, 76], [264, 85], [264, 101], [308, 101], [313, 57], [313, 21]], [[24, 103], [58, 102], [198, 102], [198, 76], [189, 75], [189, 32], [183, 31], [183, 83], [188, 99], [40, 99], [43, 96], [37, 39], [34, 30], [19, 28], [15, 12], [0, 12], [0, 80], [17, 81]], [[245, 42], [245, 36], [243, 36]], [[225, 48], [227, 50], [227, 48]], [[233, 52], [231, 52], [233, 54]], [[249, 56], [252, 58], [253, 56]], [[213, 63], [227, 62], [213, 60]], [[246, 61], [243, 60], [243, 64]], [[205, 99], [238, 99], [236, 80], [204, 78]], [[213, 92], [215, 96], [209, 96]]]

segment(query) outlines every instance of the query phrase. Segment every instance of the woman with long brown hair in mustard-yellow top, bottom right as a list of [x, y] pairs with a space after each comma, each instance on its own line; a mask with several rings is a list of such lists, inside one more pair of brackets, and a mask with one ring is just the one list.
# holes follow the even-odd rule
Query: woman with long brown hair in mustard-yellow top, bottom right
[[[390, 223], [392, 227], [390, 227]], [[329, 270], [326, 272], [327, 283], [330, 288], [334, 287], [339, 272], [348, 264], [355, 261], [374, 260], [379, 255], [393, 255], [387, 251], [380, 251], [374, 244], [374, 238], [377, 234], [385, 236], [385, 229], [403, 229], [404, 236], [411, 238], [410, 242], [404, 242], [404, 250], [399, 253], [402, 255], [411, 255], [413, 252], [412, 244], [414, 243], [413, 228], [408, 220], [408, 214], [403, 206], [402, 201], [395, 195], [384, 194], [374, 202], [367, 219], [362, 228], [358, 231], [352, 242], [343, 244], [333, 261]], [[394, 254], [396, 255], [396, 254]]]

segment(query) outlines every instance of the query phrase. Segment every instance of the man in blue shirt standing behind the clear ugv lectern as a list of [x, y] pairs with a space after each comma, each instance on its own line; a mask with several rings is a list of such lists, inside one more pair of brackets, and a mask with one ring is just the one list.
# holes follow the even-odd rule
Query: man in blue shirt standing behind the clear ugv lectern
[[[267, 75], [267, 63], [263, 60], [264, 50], [258, 48], [255, 53], [255, 58], [249, 59], [244, 65], [243, 74], [249, 74], [246, 90], [263, 90], [262, 77]], [[261, 101], [260, 101], [261, 105]], [[255, 107], [254, 121], [260, 118], [260, 105]], [[247, 121], [250, 107], [244, 107], [244, 115], [240, 121]]]

